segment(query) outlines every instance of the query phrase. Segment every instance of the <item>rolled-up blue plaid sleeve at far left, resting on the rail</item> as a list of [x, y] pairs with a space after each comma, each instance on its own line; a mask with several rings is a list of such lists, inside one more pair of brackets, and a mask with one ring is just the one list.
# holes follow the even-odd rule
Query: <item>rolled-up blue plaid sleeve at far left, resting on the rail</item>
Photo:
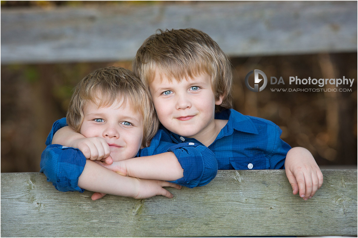
[[78, 149], [62, 145], [48, 145], [41, 155], [40, 172], [44, 173], [48, 182], [61, 192], [78, 191], [78, 178], [82, 174], [86, 157]]

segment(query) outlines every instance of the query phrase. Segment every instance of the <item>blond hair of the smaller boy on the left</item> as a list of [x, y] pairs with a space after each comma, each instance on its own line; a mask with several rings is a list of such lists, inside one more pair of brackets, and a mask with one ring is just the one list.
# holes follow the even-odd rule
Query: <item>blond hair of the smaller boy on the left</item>
[[[101, 97], [101, 98], [99, 98]], [[159, 127], [153, 101], [147, 88], [130, 70], [121, 67], [106, 67], [93, 71], [84, 77], [74, 88], [66, 115], [67, 124], [76, 132], [83, 123], [83, 107], [87, 100], [98, 106], [110, 106], [116, 100], [130, 103], [134, 111], [143, 115], [143, 140], [146, 147]]]

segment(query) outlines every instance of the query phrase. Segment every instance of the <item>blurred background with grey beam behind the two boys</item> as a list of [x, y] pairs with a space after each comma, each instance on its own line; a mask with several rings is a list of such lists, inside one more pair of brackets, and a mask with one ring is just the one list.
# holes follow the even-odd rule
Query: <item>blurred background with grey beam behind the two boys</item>
[[[1, 1], [1, 172], [39, 171], [73, 86], [131, 69], [142, 42], [172, 28], [202, 30], [229, 55], [234, 109], [279, 125], [321, 168], [357, 168], [357, 1]], [[269, 79], [258, 93], [245, 86], [253, 69]], [[290, 76], [354, 83], [294, 91], [321, 87]]]

